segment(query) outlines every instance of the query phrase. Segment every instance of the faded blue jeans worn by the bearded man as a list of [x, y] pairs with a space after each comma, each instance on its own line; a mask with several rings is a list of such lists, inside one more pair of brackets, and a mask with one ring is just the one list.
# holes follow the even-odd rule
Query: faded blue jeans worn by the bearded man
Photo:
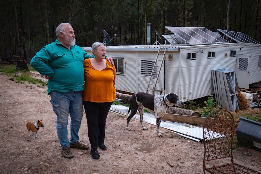
[[56, 130], [61, 144], [61, 148], [69, 147], [68, 141], [68, 117], [71, 117], [71, 138], [70, 143], [75, 144], [79, 141], [78, 132], [83, 116], [83, 103], [81, 91], [74, 92], [55, 92], [51, 93], [51, 104], [57, 116]]

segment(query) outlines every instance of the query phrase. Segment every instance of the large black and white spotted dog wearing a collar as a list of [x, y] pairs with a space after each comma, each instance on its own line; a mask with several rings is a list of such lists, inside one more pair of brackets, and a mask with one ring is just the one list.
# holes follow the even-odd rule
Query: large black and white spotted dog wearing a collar
[[[143, 125], [143, 113], [144, 108], [147, 109], [151, 114], [156, 117], [157, 123], [157, 134], [162, 137], [162, 132], [160, 131], [160, 122], [164, 114], [166, 113], [167, 107], [177, 106], [181, 107], [184, 103], [180, 100], [179, 96], [175, 93], [165, 94], [165, 95], [152, 95], [144, 92], [138, 92], [130, 97], [130, 108], [126, 117], [127, 125], [126, 129], [131, 130], [129, 127], [130, 119], [137, 113], [140, 112], [140, 123], [143, 130], [148, 130]], [[130, 112], [131, 110], [131, 112]]]

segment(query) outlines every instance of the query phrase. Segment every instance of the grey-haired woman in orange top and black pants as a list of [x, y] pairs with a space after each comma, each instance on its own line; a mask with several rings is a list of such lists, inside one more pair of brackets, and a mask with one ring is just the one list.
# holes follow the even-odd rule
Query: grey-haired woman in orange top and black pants
[[99, 159], [98, 147], [104, 145], [106, 118], [112, 102], [116, 99], [114, 87], [116, 69], [106, 59], [103, 43], [92, 44], [94, 58], [84, 60], [83, 105], [88, 124], [88, 136], [91, 143], [91, 157]]

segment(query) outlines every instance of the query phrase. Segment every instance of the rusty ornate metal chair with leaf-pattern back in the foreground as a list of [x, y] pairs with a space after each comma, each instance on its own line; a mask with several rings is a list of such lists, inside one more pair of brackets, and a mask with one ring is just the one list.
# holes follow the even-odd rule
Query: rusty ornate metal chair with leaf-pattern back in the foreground
[[[234, 163], [232, 144], [235, 133], [235, 121], [228, 110], [218, 109], [211, 112], [203, 124], [204, 159], [203, 172], [212, 174], [260, 174], [255, 170]], [[231, 163], [206, 167], [206, 162], [231, 158]], [[216, 160], [218, 161], [218, 160]]]

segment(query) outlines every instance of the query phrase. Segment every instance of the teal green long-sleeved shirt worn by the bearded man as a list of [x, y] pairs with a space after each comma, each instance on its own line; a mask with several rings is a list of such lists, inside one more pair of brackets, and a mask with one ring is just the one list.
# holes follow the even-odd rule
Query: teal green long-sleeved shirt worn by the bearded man
[[31, 66], [48, 79], [48, 94], [51, 91], [69, 92], [84, 89], [84, 59], [92, 58], [81, 47], [71, 46], [71, 50], [58, 39], [43, 47], [31, 59]]

